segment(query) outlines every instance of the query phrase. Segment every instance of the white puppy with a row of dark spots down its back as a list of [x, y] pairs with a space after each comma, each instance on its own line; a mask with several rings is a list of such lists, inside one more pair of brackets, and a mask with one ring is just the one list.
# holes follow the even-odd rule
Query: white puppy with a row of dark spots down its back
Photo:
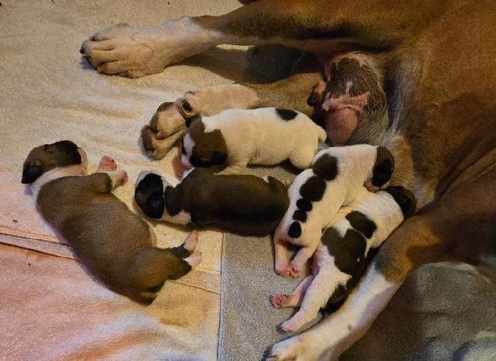
[[[340, 207], [355, 200], [364, 185], [370, 191], [384, 189], [393, 169], [394, 158], [385, 147], [359, 144], [319, 151], [312, 168], [289, 187], [289, 208], [274, 235], [276, 273], [298, 277]], [[291, 264], [285, 243], [301, 246]]]

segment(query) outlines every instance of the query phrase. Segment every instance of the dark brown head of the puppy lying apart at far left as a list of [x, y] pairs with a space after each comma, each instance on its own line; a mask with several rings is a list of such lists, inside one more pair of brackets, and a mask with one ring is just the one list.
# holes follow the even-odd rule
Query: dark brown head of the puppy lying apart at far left
[[81, 173], [86, 172], [88, 158], [83, 149], [69, 140], [44, 144], [29, 152], [22, 166], [22, 183], [31, 184], [43, 173], [53, 168], [81, 165]]

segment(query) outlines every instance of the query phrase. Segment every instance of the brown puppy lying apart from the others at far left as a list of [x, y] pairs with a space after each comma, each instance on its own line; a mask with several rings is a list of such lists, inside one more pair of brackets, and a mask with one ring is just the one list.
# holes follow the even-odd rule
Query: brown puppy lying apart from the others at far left
[[110, 290], [149, 304], [165, 280], [175, 280], [201, 261], [198, 235], [179, 247], [153, 247], [155, 234], [111, 191], [128, 175], [104, 156], [86, 175], [86, 155], [64, 140], [34, 148], [22, 183], [31, 184], [39, 212], [71, 245], [88, 271]]

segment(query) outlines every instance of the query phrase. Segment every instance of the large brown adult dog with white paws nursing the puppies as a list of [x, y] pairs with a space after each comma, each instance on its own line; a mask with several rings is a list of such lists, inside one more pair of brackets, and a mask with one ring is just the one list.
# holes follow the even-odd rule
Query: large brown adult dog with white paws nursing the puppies
[[[324, 60], [326, 83], [296, 71], [276, 83], [187, 93], [144, 133], [160, 157], [184, 116], [275, 106], [315, 111], [333, 144], [392, 151], [392, 184], [415, 193], [418, 212], [392, 233], [338, 312], [271, 350], [277, 359], [314, 360], [337, 357], [357, 341], [416, 267], [495, 253], [495, 18], [494, 1], [259, 0], [153, 29], [116, 25], [81, 52], [98, 71], [129, 77], [221, 43], [275, 43]], [[315, 107], [306, 104], [309, 95]]]

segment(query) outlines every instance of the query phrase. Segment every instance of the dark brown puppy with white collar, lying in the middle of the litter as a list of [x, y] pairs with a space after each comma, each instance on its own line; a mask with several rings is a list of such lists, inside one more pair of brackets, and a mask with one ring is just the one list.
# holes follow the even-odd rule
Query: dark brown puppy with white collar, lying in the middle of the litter
[[177, 186], [143, 171], [135, 200], [154, 219], [246, 236], [272, 233], [289, 205], [287, 188], [273, 177], [214, 175], [205, 168], [191, 170]]

